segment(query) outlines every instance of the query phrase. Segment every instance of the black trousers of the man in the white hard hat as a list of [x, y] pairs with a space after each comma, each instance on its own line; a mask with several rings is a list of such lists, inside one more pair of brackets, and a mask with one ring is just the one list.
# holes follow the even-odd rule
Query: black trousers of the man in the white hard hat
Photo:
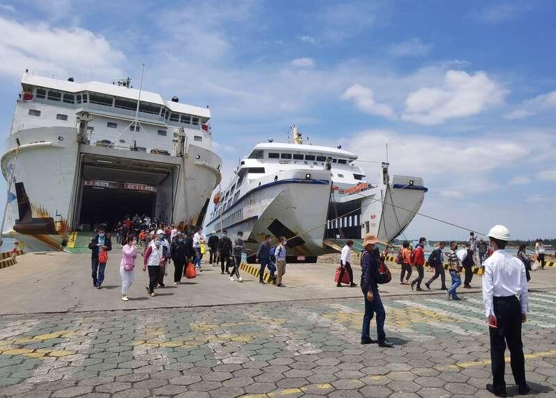
[[504, 380], [506, 345], [509, 348], [509, 358], [512, 365], [514, 381], [517, 385], [525, 385], [525, 358], [523, 357], [523, 342], [521, 342], [521, 306], [515, 296], [493, 297], [493, 309], [498, 327], [490, 329], [491, 361], [493, 388], [506, 388]]

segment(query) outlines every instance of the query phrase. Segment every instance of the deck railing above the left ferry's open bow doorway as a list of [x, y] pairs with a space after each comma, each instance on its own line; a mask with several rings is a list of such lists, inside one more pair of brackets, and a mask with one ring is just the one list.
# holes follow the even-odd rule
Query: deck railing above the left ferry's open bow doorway
[[120, 149], [122, 151], [142, 152], [161, 156], [175, 156], [175, 144], [165, 144], [137, 138], [126, 138], [108, 134], [89, 132], [86, 144], [94, 147]]

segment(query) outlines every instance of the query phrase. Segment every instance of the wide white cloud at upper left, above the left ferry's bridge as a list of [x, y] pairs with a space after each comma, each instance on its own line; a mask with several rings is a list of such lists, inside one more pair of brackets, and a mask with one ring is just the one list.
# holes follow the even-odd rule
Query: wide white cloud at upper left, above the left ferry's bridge
[[[72, 74], [99, 79], [120, 76], [123, 53], [102, 35], [82, 28], [55, 28], [48, 24], [21, 24], [0, 17], [0, 74], [21, 77], [25, 68], [66, 78]], [[86, 56], [85, 56], [86, 53]]]

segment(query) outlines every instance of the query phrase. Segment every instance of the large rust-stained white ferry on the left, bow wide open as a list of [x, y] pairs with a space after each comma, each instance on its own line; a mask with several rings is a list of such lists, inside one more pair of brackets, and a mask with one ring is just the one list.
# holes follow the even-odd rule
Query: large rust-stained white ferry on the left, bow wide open
[[126, 214], [202, 223], [222, 165], [208, 107], [134, 89], [129, 78], [79, 83], [27, 71], [21, 83], [1, 157], [13, 199], [4, 233], [45, 250]]

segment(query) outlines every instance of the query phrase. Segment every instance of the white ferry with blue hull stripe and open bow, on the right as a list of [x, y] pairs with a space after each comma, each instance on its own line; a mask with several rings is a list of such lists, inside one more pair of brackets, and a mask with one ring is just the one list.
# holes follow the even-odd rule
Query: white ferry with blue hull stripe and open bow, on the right
[[341, 148], [304, 143], [293, 126], [293, 143], [256, 144], [240, 160], [236, 176], [215, 196], [206, 231], [243, 231], [254, 260], [266, 234], [288, 238], [288, 261], [316, 261], [333, 250], [327, 240], [360, 239], [375, 233], [393, 240], [419, 210], [427, 188], [423, 179], [393, 176], [389, 165], [377, 168], [376, 181], [366, 181], [357, 155]]

